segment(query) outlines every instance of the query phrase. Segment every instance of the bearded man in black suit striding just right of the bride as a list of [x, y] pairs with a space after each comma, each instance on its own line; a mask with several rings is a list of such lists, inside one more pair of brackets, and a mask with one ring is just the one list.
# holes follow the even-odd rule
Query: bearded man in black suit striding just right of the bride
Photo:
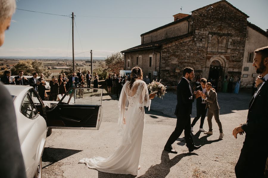
[[197, 150], [201, 146], [194, 146], [194, 141], [191, 136], [191, 112], [192, 104], [195, 98], [200, 97], [202, 93], [200, 90], [194, 91], [190, 86], [190, 81], [194, 78], [194, 69], [191, 67], [186, 67], [183, 70], [183, 77], [177, 85], [177, 106], [175, 110], [175, 115], [177, 116], [177, 124], [175, 130], [170, 135], [166, 145], [164, 147], [165, 151], [176, 153], [172, 148], [172, 144], [177, 140], [182, 131], [184, 130], [184, 136], [186, 140], [186, 146], [189, 152]]

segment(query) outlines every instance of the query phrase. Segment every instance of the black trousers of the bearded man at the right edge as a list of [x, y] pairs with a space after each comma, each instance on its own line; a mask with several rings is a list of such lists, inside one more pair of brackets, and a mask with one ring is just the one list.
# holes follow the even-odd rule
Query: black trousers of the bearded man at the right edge
[[268, 150], [265, 138], [263, 140], [255, 137], [250, 138], [246, 134], [246, 138], [235, 167], [236, 177], [264, 177], [267, 156]]

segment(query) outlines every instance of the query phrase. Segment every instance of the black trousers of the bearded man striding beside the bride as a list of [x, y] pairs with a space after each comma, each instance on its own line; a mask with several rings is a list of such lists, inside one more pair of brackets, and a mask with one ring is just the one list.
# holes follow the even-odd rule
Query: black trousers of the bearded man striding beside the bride
[[168, 141], [166, 142], [165, 147], [170, 148], [171, 145], [179, 138], [181, 133], [184, 130], [184, 136], [187, 147], [193, 147], [194, 141], [191, 136], [191, 115], [189, 116], [178, 116], [177, 115], [177, 124], [175, 130], [169, 136]]

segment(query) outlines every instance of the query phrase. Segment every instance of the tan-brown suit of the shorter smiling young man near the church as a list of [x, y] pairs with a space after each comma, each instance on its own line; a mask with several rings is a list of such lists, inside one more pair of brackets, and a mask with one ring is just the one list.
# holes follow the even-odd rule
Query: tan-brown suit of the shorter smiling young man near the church
[[217, 99], [217, 93], [214, 90], [210, 90], [209, 93], [206, 91], [205, 95], [207, 96], [206, 108], [208, 108], [208, 127], [209, 131], [212, 131], [212, 117], [214, 116], [216, 123], [219, 126], [219, 131], [222, 132], [222, 123], [219, 120], [219, 104]]

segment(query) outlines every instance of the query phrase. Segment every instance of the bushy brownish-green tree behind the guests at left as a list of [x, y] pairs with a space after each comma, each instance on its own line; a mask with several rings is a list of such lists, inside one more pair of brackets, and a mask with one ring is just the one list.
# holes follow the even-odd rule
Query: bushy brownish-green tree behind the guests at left
[[32, 75], [34, 72], [38, 74], [43, 73], [44, 76], [49, 77], [51, 75], [50, 71], [48, 71], [45, 66], [43, 66], [40, 61], [33, 60], [22, 60], [19, 61], [12, 69], [11, 72], [13, 75], [18, 75], [18, 71], [22, 70], [24, 75]]

